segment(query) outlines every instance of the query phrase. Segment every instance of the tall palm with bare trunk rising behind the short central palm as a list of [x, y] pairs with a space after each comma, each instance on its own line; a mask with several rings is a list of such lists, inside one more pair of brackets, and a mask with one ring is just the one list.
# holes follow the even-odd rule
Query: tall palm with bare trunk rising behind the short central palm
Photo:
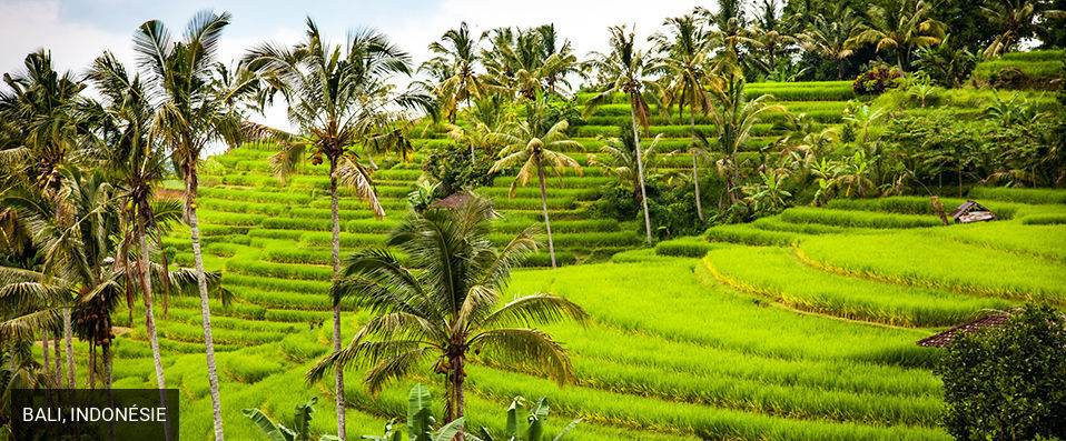
[[[387, 106], [428, 104], [416, 94], [388, 97], [385, 80], [394, 73], [411, 73], [407, 53], [387, 37], [373, 30], [352, 32], [346, 49], [324, 41], [318, 26], [308, 18], [306, 39], [293, 48], [264, 43], [251, 49], [243, 63], [265, 79], [288, 102], [289, 120], [299, 129], [288, 133], [267, 127], [251, 127], [250, 138], [273, 139], [278, 152], [270, 166], [280, 180], [310, 154], [313, 163], [329, 163], [329, 198], [333, 220], [333, 273], [340, 271], [340, 221], [338, 183], [349, 184], [367, 201], [378, 218], [385, 216], [374, 191], [371, 170], [359, 162], [355, 150], [374, 146], [404, 146], [402, 132], [393, 129], [395, 112]], [[250, 124], [246, 123], [246, 127]], [[340, 350], [340, 304], [333, 309], [333, 345]], [[345, 439], [344, 372], [336, 377], [337, 427]]]

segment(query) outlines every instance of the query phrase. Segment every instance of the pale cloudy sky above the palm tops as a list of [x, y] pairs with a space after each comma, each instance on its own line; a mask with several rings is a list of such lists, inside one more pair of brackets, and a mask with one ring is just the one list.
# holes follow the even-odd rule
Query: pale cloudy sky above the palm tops
[[[428, 58], [426, 46], [464, 20], [478, 34], [503, 26], [553, 22], [584, 57], [605, 49], [610, 26], [635, 24], [638, 34], [646, 37], [667, 17], [697, 6], [714, 9], [713, 0], [0, 0], [0, 72], [20, 70], [26, 54], [41, 48], [51, 51], [58, 69], [75, 73], [83, 72], [105, 49], [132, 66], [131, 36], [138, 26], [158, 19], [180, 33], [204, 9], [233, 16], [219, 44], [227, 62], [263, 41], [297, 42], [310, 17], [337, 43], [348, 30], [377, 29], [421, 63]], [[280, 109], [257, 119], [287, 126]]]

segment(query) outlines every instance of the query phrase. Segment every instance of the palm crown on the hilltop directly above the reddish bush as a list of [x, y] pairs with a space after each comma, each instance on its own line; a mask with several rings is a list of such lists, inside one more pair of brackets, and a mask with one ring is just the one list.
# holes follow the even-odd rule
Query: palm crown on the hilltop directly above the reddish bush
[[925, 0], [892, 0], [885, 7], [871, 6], [869, 23], [859, 24], [845, 46], [856, 49], [872, 43], [878, 51], [891, 48], [896, 52], [896, 66], [906, 71], [912, 48], [939, 43], [944, 37], [945, 24], [931, 19], [932, 12], [932, 4]]

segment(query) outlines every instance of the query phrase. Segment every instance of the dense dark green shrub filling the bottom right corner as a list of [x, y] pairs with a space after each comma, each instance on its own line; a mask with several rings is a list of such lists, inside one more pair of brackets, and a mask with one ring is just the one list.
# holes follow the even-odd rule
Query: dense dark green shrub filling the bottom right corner
[[1047, 305], [957, 339], [937, 368], [948, 432], [960, 440], [1066, 437], [1064, 353], [1066, 318]]

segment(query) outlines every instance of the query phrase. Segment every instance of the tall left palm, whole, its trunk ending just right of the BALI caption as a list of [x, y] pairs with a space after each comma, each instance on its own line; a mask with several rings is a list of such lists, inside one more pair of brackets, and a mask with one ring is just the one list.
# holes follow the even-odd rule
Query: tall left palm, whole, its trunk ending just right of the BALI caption
[[197, 166], [200, 153], [211, 142], [234, 146], [240, 139], [241, 116], [237, 100], [255, 91], [251, 81], [223, 88], [214, 79], [218, 69], [218, 40], [229, 24], [229, 13], [201, 11], [189, 20], [186, 32], [172, 40], [167, 27], [158, 20], [147, 21], [134, 34], [134, 50], [145, 76], [154, 113], [149, 136], [170, 151], [170, 157], [185, 180], [185, 210], [191, 229], [193, 259], [200, 291], [200, 315], [207, 354], [207, 378], [210, 385], [215, 440], [223, 441], [221, 401], [215, 368], [215, 341], [211, 338], [207, 277], [200, 253], [200, 229], [196, 217], [199, 187]]

